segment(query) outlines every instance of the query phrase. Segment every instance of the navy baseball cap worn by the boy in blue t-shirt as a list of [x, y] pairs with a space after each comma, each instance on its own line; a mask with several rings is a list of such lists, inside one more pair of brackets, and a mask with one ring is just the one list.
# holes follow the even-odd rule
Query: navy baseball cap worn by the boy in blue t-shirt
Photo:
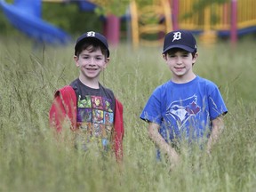
[[164, 36], [163, 54], [172, 48], [180, 48], [187, 52], [197, 52], [195, 37], [186, 30], [175, 30]]

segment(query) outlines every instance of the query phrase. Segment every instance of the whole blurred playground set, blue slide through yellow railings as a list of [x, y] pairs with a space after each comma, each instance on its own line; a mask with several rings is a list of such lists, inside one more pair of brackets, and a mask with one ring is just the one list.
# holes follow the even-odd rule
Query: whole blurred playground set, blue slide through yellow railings
[[[80, 10], [92, 12], [97, 6], [110, 4], [108, 0], [14, 0], [6, 4], [0, 0], [7, 19], [15, 28], [36, 39], [50, 44], [66, 44], [70, 36], [41, 19], [42, 2], [76, 3]], [[100, 3], [99, 3], [100, 2]], [[236, 43], [237, 36], [256, 32], [255, 0], [229, 0], [225, 4], [207, 4], [202, 10], [195, 10], [195, 4], [201, 0], [151, 0], [138, 5], [137, 0], [131, 0], [130, 16], [124, 20], [131, 21], [132, 44], [158, 45], [162, 44], [163, 36], [172, 29], [187, 29], [200, 35], [200, 40], [212, 44], [221, 37], [230, 37]], [[189, 17], [185, 17], [191, 13]], [[110, 43], [119, 38], [119, 22], [115, 15], [105, 18], [105, 35]]]

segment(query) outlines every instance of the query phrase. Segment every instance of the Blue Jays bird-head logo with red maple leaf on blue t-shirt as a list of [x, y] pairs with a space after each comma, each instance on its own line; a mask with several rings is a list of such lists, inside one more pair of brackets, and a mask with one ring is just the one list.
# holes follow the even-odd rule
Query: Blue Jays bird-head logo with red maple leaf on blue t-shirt
[[197, 96], [193, 95], [185, 100], [175, 100], [166, 110], [166, 116], [174, 119], [179, 130], [188, 121], [191, 116], [196, 116], [201, 111], [197, 105]]

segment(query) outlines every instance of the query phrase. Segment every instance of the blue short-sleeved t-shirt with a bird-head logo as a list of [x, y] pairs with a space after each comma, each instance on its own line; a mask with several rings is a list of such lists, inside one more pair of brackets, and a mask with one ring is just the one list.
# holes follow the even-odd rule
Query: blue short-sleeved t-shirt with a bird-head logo
[[186, 84], [168, 81], [156, 88], [140, 118], [160, 125], [160, 134], [169, 140], [197, 140], [209, 135], [212, 120], [228, 109], [219, 88], [211, 81], [196, 76]]

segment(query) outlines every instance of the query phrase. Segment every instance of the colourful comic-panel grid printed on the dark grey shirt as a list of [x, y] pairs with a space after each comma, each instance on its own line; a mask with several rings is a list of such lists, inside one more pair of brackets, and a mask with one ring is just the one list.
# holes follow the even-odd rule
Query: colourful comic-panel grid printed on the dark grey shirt
[[100, 96], [85, 96], [84, 100], [78, 97], [76, 119], [81, 131], [79, 142], [82, 140], [83, 148], [95, 141], [104, 150], [108, 149], [114, 122], [112, 102]]

